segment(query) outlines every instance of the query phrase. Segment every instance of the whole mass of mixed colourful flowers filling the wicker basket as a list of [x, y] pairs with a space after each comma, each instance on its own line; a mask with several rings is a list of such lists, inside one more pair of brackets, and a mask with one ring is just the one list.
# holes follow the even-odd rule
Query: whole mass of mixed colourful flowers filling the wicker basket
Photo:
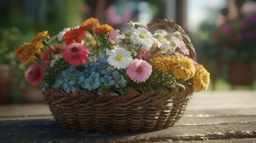
[[[25, 72], [32, 86], [43, 91], [62, 89], [67, 95], [84, 88], [103, 90], [143, 87], [164, 92], [164, 86], [193, 84], [195, 92], [207, 90], [210, 74], [201, 64], [187, 57], [189, 49], [180, 32], [157, 29], [151, 33], [139, 22], [125, 24], [120, 34], [108, 24], [89, 18], [79, 26], [65, 28], [50, 38], [40, 32], [15, 51], [23, 62], [33, 62]], [[54, 44], [52, 44], [54, 43]]]

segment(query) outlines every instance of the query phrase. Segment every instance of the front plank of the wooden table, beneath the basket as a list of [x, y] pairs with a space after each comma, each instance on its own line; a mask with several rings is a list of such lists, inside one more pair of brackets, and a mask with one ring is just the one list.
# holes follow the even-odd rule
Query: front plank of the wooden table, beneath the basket
[[171, 139], [200, 141], [203, 139], [256, 138], [256, 123], [173, 126], [159, 131], [124, 134], [99, 134], [65, 130], [55, 121], [0, 122], [0, 142], [84, 142], [139, 143]]

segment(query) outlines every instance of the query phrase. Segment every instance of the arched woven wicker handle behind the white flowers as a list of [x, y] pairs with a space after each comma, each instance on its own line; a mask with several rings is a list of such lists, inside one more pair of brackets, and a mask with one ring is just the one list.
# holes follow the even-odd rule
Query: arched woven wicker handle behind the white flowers
[[193, 46], [189, 36], [185, 33], [184, 29], [176, 23], [174, 23], [171, 20], [164, 19], [157, 19], [153, 22], [150, 22], [148, 25], [148, 28], [153, 28], [155, 26], [166, 26], [173, 29], [173, 31], [180, 31], [182, 33], [183, 41], [186, 44], [186, 47], [189, 49], [189, 57], [194, 59], [197, 62], [196, 53], [195, 53], [195, 47]]

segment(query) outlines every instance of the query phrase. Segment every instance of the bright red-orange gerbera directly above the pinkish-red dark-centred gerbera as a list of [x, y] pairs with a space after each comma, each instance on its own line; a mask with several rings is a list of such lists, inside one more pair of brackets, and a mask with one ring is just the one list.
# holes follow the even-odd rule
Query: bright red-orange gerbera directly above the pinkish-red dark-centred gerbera
[[62, 39], [66, 45], [69, 45], [72, 43], [81, 43], [85, 37], [85, 31], [82, 29], [71, 29], [63, 35]]

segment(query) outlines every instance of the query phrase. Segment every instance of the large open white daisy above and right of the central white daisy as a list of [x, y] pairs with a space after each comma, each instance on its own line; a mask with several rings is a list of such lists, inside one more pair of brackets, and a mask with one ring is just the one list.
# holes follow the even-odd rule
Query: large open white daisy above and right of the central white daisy
[[134, 29], [132, 33], [132, 40], [135, 44], [142, 44], [142, 46], [152, 46], [156, 41], [153, 35], [145, 28]]

